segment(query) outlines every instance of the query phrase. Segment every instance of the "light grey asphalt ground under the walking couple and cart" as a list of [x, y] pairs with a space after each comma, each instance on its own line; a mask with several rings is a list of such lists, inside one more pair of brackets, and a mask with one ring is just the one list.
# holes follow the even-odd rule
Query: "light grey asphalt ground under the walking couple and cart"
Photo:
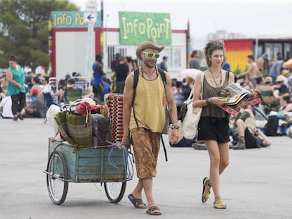
[[[118, 204], [111, 204], [99, 183], [69, 183], [66, 201], [49, 199], [46, 175], [49, 124], [42, 119], [0, 119], [0, 218], [151, 218], [133, 208], [129, 181]], [[159, 153], [153, 193], [160, 218], [292, 218], [292, 139], [271, 137], [272, 146], [231, 150], [221, 175], [226, 210], [214, 209], [213, 194], [202, 204], [202, 180], [209, 172], [207, 151], [171, 148]], [[145, 199], [145, 196], [144, 196]]]

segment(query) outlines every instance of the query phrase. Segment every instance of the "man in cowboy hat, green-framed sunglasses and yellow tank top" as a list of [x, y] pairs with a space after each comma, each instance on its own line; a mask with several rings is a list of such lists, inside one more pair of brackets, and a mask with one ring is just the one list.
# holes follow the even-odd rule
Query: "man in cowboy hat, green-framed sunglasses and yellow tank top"
[[[127, 147], [133, 144], [138, 184], [128, 198], [135, 208], [147, 208], [150, 215], [161, 215], [152, 194], [152, 178], [157, 173], [157, 158], [161, 132], [165, 125], [166, 106], [172, 124], [171, 144], [177, 144], [180, 125], [178, 124], [176, 103], [171, 87], [171, 77], [165, 73], [166, 85], [156, 67], [159, 53], [164, 46], [157, 45], [155, 39], [147, 39], [138, 45], [137, 57], [142, 61], [138, 68], [138, 85], [134, 99], [134, 73], [126, 77], [123, 95], [123, 139]], [[147, 205], [142, 201], [144, 189]]]

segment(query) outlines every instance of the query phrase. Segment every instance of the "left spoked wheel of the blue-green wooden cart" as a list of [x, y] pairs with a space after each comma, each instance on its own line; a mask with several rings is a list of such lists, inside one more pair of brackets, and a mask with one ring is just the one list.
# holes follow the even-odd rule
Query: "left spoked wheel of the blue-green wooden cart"
[[[54, 204], [61, 205], [68, 192], [68, 169], [65, 158], [60, 151], [51, 154], [47, 166], [47, 189]], [[60, 179], [61, 178], [61, 179]]]

